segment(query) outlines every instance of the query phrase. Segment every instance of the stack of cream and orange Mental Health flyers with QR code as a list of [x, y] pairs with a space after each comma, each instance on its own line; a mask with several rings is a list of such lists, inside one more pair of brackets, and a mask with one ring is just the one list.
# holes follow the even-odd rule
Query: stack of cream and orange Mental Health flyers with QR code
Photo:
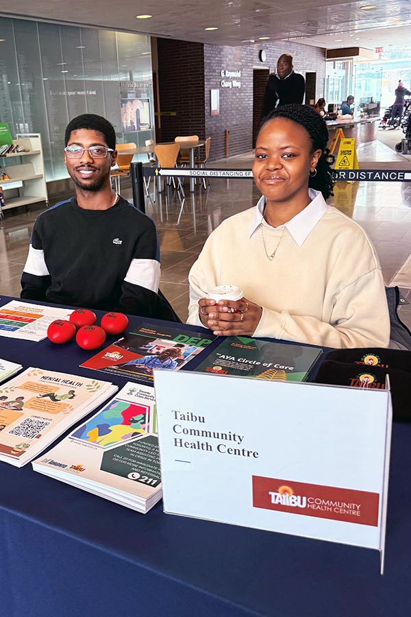
[[0, 385], [0, 461], [22, 467], [117, 390], [99, 381], [29, 367]]

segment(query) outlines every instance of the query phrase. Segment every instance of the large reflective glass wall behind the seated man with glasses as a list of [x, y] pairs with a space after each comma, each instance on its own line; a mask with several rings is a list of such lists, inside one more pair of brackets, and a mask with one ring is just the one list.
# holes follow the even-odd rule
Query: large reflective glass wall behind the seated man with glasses
[[8, 18], [0, 34], [0, 122], [42, 134], [47, 180], [67, 177], [64, 131], [79, 114], [110, 120], [119, 142], [153, 138], [148, 36]]

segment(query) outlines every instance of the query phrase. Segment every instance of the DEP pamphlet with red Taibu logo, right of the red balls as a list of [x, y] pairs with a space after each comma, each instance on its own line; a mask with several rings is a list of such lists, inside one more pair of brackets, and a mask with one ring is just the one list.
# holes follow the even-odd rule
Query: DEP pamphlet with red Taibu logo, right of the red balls
[[177, 371], [215, 337], [195, 330], [142, 324], [81, 366], [153, 383], [153, 369]]

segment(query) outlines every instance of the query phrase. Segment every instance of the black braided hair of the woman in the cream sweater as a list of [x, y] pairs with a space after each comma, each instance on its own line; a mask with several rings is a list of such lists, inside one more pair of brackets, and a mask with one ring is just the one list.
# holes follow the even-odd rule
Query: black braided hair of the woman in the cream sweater
[[308, 186], [310, 189], [316, 189], [323, 193], [324, 199], [328, 199], [333, 195], [332, 187], [334, 186], [334, 177], [331, 165], [334, 162], [334, 156], [329, 154], [327, 148], [328, 130], [323, 118], [308, 105], [283, 105], [273, 110], [262, 121], [262, 126], [269, 120], [275, 118], [285, 118], [291, 120], [306, 129], [312, 142], [312, 151], [321, 150], [322, 154], [316, 166], [316, 176], [310, 176]]

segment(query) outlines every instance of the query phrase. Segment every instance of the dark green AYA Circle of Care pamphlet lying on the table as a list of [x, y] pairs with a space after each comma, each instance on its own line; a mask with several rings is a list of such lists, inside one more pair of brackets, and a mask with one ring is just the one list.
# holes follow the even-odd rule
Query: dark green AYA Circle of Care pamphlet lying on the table
[[195, 371], [274, 381], [306, 381], [321, 348], [226, 337]]

